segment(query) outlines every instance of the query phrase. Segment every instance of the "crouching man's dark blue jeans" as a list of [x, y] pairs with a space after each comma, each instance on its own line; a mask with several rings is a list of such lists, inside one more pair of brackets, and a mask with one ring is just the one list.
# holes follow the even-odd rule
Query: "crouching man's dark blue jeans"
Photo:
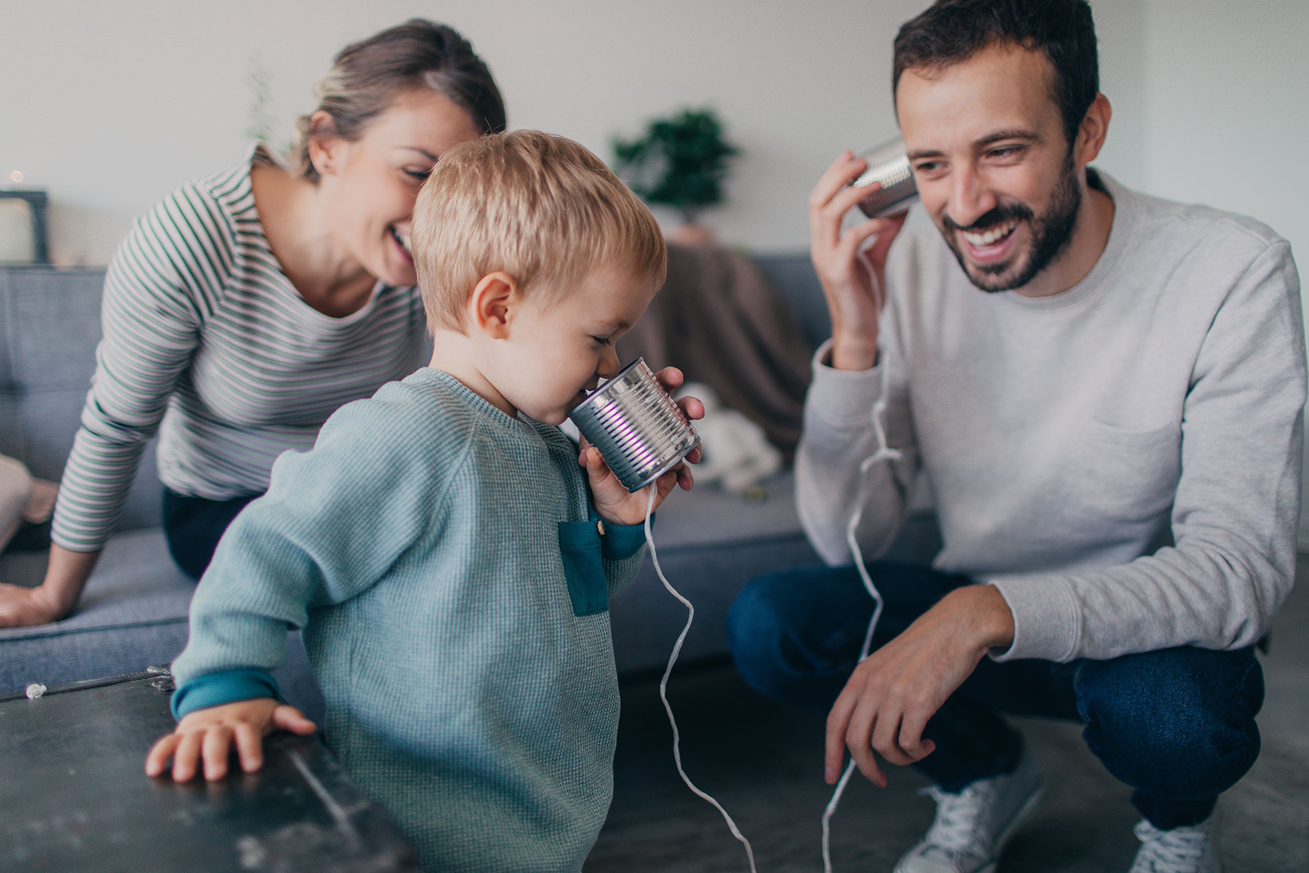
[[[885, 601], [873, 649], [948, 592], [970, 585], [927, 567], [869, 567]], [[797, 567], [753, 580], [728, 613], [728, 644], [755, 690], [823, 715], [846, 686], [873, 602], [853, 567]], [[1069, 664], [982, 658], [927, 724], [936, 750], [915, 767], [945, 791], [1011, 772], [1022, 739], [1001, 713], [1085, 725], [1086, 746], [1170, 830], [1210, 817], [1259, 757], [1263, 670], [1250, 648], [1194, 647]]]

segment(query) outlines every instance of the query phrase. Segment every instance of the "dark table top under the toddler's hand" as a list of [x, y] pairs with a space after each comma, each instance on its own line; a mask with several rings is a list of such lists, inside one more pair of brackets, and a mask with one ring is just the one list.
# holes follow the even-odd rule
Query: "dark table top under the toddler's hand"
[[165, 670], [0, 698], [0, 870], [419, 870], [318, 737], [279, 733], [258, 774], [145, 776], [173, 729]]

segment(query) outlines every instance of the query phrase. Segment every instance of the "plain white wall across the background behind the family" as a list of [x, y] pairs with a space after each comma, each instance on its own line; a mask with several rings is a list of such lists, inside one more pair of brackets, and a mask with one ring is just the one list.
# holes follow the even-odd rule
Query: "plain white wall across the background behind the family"
[[[565, 134], [606, 158], [614, 134], [713, 106], [744, 154], [729, 203], [706, 223], [728, 242], [800, 250], [823, 168], [894, 134], [890, 42], [925, 4], [4, 0], [0, 185], [18, 169], [50, 191], [56, 262], [103, 263], [132, 216], [241, 154], [253, 58], [288, 130], [340, 46], [427, 16], [473, 39], [511, 126]], [[1309, 259], [1309, 3], [1092, 7], [1114, 106], [1098, 165], [1153, 194], [1254, 215]]]

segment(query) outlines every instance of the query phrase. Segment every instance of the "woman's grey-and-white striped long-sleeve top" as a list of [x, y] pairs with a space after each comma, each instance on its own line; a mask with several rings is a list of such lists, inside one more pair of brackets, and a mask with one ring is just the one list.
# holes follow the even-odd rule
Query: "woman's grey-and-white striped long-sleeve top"
[[377, 283], [363, 309], [309, 306], [268, 247], [250, 168], [187, 183], [136, 221], [105, 277], [103, 339], [64, 467], [54, 541], [109, 538], [147, 440], [160, 479], [224, 500], [268, 487], [274, 459], [313, 445], [340, 406], [421, 363], [418, 291]]

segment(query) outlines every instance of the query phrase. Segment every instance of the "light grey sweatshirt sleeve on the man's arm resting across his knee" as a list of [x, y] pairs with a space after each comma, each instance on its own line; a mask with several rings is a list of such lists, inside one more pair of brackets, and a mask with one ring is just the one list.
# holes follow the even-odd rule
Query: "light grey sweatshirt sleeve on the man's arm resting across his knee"
[[1305, 382], [1300, 280], [1289, 246], [1276, 240], [1227, 294], [1196, 356], [1174, 544], [1101, 572], [994, 582], [1016, 627], [996, 657], [1257, 643], [1295, 576]]

